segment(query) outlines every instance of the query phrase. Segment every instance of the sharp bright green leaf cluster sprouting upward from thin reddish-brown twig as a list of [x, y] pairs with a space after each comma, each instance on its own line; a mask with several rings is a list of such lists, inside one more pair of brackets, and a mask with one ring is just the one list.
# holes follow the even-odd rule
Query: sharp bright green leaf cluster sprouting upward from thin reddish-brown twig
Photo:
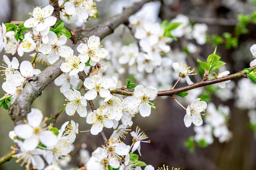
[[220, 56], [216, 54], [216, 48], [212, 54], [210, 54], [207, 58], [206, 62], [201, 61], [200, 59], [197, 59], [197, 62], [199, 62], [200, 66], [204, 70], [212, 71], [217, 69], [218, 67], [225, 65], [226, 63], [220, 60]]

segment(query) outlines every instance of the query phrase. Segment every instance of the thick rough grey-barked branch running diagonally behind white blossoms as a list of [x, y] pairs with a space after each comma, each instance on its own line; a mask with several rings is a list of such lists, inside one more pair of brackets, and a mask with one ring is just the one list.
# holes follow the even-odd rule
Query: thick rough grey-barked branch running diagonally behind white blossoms
[[[50, 4], [55, 9], [59, 8], [57, 4], [58, 0], [49, 0]], [[86, 38], [92, 35], [99, 36], [101, 39], [113, 32], [113, 30], [121, 23], [126, 22], [129, 16], [137, 12], [145, 3], [154, 0], [142, 0], [135, 3], [133, 6], [124, 9], [124, 11], [103, 24], [98, 25], [90, 31], [77, 32], [72, 36], [72, 40], [76, 43], [73, 47], [75, 55], [78, 54], [76, 47], [79, 43], [83, 42]], [[57, 12], [55, 16], [58, 17]], [[59, 13], [59, 12], [58, 12]], [[23, 119], [26, 118], [30, 112], [32, 102], [42, 93], [42, 91], [61, 73], [60, 65], [64, 62], [64, 58], [60, 58], [54, 64], [43, 70], [38, 76], [35, 76], [27, 86], [22, 90], [16, 99], [16, 102], [10, 107], [9, 114], [15, 124], [23, 123]], [[85, 74], [85, 73], [84, 73]]]

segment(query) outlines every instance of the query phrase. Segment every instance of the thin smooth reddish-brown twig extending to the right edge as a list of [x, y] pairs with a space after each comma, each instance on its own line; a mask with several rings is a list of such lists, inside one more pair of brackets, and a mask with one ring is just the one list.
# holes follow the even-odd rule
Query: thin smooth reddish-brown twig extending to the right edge
[[[249, 67], [249, 69], [253, 70], [256, 68], [256, 65]], [[194, 84], [191, 85], [187, 85], [184, 87], [180, 87], [180, 88], [176, 88], [176, 89], [171, 89], [171, 90], [165, 90], [165, 91], [159, 91], [157, 93], [158, 96], [171, 96], [173, 94], [176, 94], [178, 92], [183, 92], [183, 91], [188, 91], [194, 88], [198, 88], [198, 87], [202, 87], [202, 86], [206, 86], [206, 85], [210, 85], [210, 84], [215, 84], [215, 83], [219, 83], [219, 82], [223, 82], [223, 81], [227, 81], [233, 78], [237, 78], [237, 77], [247, 77], [247, 74], [245, 73], [245, 71], [239, 71], [236, 72], [234, 74], [222, 77], [222, 78], [216, 78], [216, 79], [212, 79], [212, 80], [206, 80], [206, 81], [199, 81], [196, 82]], [[121, 95], [133, 95], [134, 92], [133, 91], [127, 91], [127, 90], [123, 90], [123, 89], [115, 89], [112, 90], [111, 93], [115, 93], [115, 94], [121, 94]]]

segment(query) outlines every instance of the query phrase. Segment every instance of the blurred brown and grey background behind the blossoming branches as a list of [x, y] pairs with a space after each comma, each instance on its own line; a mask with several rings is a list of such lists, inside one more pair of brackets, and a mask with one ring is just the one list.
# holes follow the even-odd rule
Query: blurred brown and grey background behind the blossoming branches
[[[237, 13], [250, 13], [256, 8], [256, 2], [254, 0], [163, 1], [165, 5], [161, 6], [159, 13], [158, 10], [148, 11], [151, 17], [159, 16], [161, 19], [171, 20], [178, 13], [183, 13], [193, 18], [192, 21], [195, 22], [203, 20], [207, 23], [209, 21], [207, 23], [209, 34], [222, 34], [224, 31], [232, 32], [236, 23]], [[99, 18], [89, 20], [86, 23], [86, 27], [92, 27], [106, 21], [111, 16], [121, 12], [123, 6], [129, 5], [130, 3], [130, 0], [102, 0], [98, 2]], [[33, 7], [45, 6], [48, 4], [48, 0], [0, 0], [0, 4], [0, 22], [2, 23], [10, 22], [11, 20], [26, 20], [29, 17], [28, 13], [33, 10]], [[225, 18], [228, 24], [223, 25], [218, 22], [212, 22], [211, 20], [207, 20], [207, 18]], [[74, 25], [69, 26], [73, 27]], [[230, 72], [236, 72], [244, 67], [248, 67], [249, 62], [252, 60], [249, 47], [256, 42], [255, 28], [255, 25], [248, 26], [250, 33], [239, 37], [239, 47], [237, 49], [226, 50], [224, 45], [218, 46], [218, 54], [222, 57], [222, 60], [228, 63], [227, 68]], [[118, 39], [124, 44], [134, 40], [130, 31], [123, 25], [117, 28], [114, 35], [108, 36], [106, 39]], [[72, 43], [69, 42], [69, 45], [72, 46]], [[201, 46], [200, 56], [206, 58], [212, 53], [213, 49], [211, 44]], [[2, 52], [1, 56], [3, 54]], [[24, 55], [23, 57], [15, 56], [17, 56], [20, 63], [23, 60], [32, 59], [28, 55]], [[37, 67], [43, 70], [46, 66], [38, 63]], [[121, 79], [124, 80], [125, 77]], [[195, 79], [193, 80], [195, 81]], [[4, 76], [0, 78], [0, 82], [4, 82]], [[234, 82], [237, 83], [237, 79]], [[178, 86], [183, 85], [186, 84], [178, 84]], [[0, 95], [4, 95], [2, 89], [0, 89]], [[65, 103], [64, 99], [64, 95], [59, 92], [59, 87], [51, 83], [43, 91], [42, 95], [35, 100], [33, 107], [41, 109], [44, 115], [49, 117], [63, 107]], [[152, 164], [156, 168], [162, 166], [162, 164], [168, 164], [169, 166], [187, 170], [256, 169], [256, 142], [253, 131], [248, 128], [248, 110], [235, 107], [235, 100], [235, 95], [227, 101], [222, 101], [214, 95], [211, 96], [211, 101], [215, 105], [221, 103], [230, 107], [228, 128], [232, 131], [232, 139], [226, 143], [219, 143], [218, 139], [215, 138], [212, 145], [207, 148], [196, 148], [195, 153], [190, 153], [188, 148], [184, 146], [184, 142], [189, 136], [194, 135], [194, 131], [192, 127], [187, 128], [184, 125], [184, 110], [171, 98], [158, 98], [156, 103], [157, 109], [153, 110], [151, 116], [141, 117], [138, 114], [134, 118], [133, 129], [136, 128], [136, 125], [139, 125], [151, 140], [151, 143], [142, 144], [142, 156], [140, 159], [147, 164]], [[56, 126], [60, 128], [63, 122], [71, 118], [79, 123], [79, 129], [87, 130], [90, 128], [85, 118], [79, 117], [78, 114], [70, 117], [66, 113], [60, 115]], [[14, 123], [8, 115], [8, 111], [0, 108], [0, 155], [10, 151], [10, 146], [14, 144], [8, 135], [9, 131], [13, 130], [13, 128]], [[112, 133], [112, 129], [104, 129], [104, 131], [107, 137]], [[131, 144], [131, 139], [132, 137], [128, 135], [124, 142]], [[79, 134], [76, 139], [76, 149], [71, 154], [71, 166], [67, 169], [79, 166], [79, 146], [81, 143], [86, 143], [87, 149], [91, 152], [97, 146], [103, 144], [103, 140], [100, 135], [94, 136], [90, 133]], [[20, 167], [15, 162], [15, 159], [12, 159], [1, 165], [0, 169], [23, 169], [23, 167]]]

